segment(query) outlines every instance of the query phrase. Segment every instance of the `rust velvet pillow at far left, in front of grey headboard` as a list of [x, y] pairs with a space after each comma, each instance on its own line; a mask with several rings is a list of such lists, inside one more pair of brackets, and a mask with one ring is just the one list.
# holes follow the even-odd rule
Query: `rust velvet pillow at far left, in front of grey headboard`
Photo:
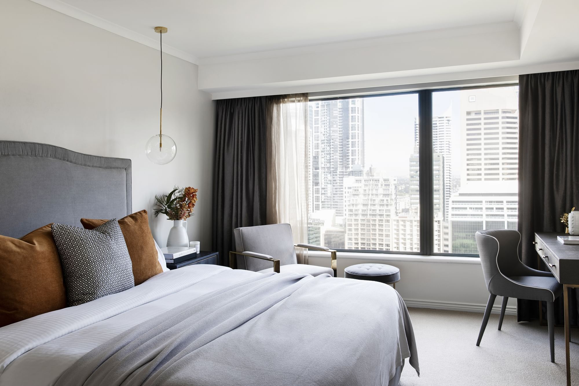
[[0, 236], [0, 327], [65, 307], [50, 224], [20, 239]]

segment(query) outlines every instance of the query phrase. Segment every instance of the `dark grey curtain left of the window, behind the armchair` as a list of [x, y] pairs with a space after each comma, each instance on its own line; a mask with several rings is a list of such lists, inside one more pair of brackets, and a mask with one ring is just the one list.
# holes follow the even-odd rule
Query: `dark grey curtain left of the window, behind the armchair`
[[233, 229], [266, 224], [267, 128], [272, 97], [218, 100], [213, 250], [229, 265]]

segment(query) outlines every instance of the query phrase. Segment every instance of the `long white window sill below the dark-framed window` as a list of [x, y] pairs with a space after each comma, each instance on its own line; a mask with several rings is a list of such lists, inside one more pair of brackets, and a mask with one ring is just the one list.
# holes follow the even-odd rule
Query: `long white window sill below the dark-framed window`
[[[328, 253], [309, 251], [310, 257], [327, 257]], [[402, 254], [402, 253], [364, 253], [364, 252], [338, 252], [336, 258], [349, 258], [351, 260], [365, 260], [371, 262], [373, 260], [380, 261], [413, 261], [416, 263], [453, 263], [453, 264], [478, 264], [481, 265], [481, 259], [477, 257], [462, 257], [462, 256], [422, 256], [416, 254]]]

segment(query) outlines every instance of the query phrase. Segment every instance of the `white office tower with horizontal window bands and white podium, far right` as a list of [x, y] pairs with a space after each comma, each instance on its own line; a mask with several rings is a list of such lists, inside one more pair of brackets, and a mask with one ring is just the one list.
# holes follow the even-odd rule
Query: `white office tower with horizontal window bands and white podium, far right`
[[478, 253], [475, 232], [517, 227], [518, 93], [463, 90], [460, 99], [462, 172], [450, 200], [450, 252]]

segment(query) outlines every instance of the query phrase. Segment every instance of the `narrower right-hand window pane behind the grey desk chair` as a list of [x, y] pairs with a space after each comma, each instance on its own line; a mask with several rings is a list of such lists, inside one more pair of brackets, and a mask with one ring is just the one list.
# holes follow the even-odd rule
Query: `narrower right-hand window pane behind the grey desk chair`
[[[476, 97], [475, 101], [471, 101], [472, 96]], [[484, 141], [477, 143], [481, 146], [477, 150], [482, 152], [485, 161], [482, 170], [480, 163], [470, 162], [479, 161], [478, 158], [467, 158], [472, 150], [471, 141], [478, 139], [472, 137], [467, 127], [472, 125], [470, 117], [481, 111], [483, 120], [493, 121], [484, 122]], [[433, 92], [433, 121], [441, 116], [449, 123], [444, 128], [433, 127], [433, 155], [444, 159], [444, 178], [438, 180], [438, 186], [434, 179], [434, 188], [444, 192], [444, 202], [433, 198], [433, 214], [434, 226], [446, 224], [447, 234], [433, 232], [434, 237], [442, 238], [434, 240], [434, 252], [477, 254], [476, 231], [516, 229], [516, 221], [507, 221], [505, 214], [516, 213], [518, 162], [503, 161], [518, 151], [518, 86]], [[504, 121], [505, 118], [508, 121]], [[509, 125], [508, 134], [504, 125]], [[445, 135], [435, 135], [441, 129]], [[488, 129], [494, 131], [487, 132]], [[435, 168], [434, 162], [433, 170]], [[510, 203], [507, 207], [502, 205], [505, 201]], [[478, 206], [467, 206], [465, 202], [477, 202]], [[480, 220], [473, 221], [474, 217]]]

